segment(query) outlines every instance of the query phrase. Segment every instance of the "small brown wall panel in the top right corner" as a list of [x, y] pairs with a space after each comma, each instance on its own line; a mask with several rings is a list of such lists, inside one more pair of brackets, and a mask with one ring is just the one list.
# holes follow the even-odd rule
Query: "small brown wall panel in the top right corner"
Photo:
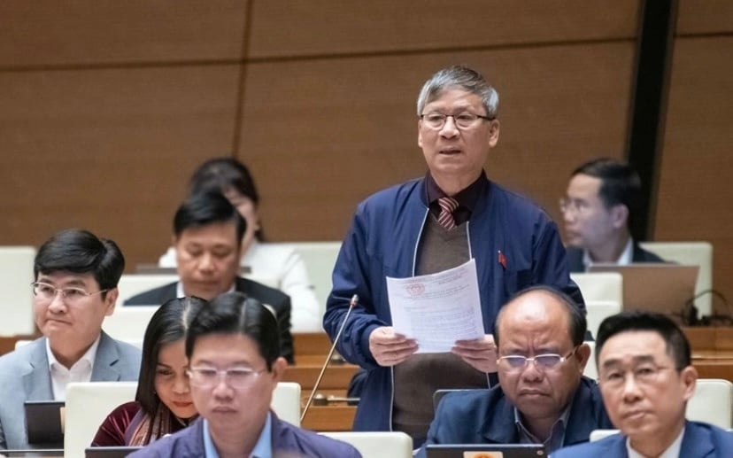
[[730, 0], [680, 0], [677, 34], [733, 32], [733, 2]]

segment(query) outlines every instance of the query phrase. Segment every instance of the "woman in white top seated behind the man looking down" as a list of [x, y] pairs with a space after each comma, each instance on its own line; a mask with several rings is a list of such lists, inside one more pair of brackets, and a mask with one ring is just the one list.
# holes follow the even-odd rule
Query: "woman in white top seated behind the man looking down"
[[[223, 193], [247, 221], [242, 238], [242, 266], [249, 268], [253, 276], [274, 280], [277, 289], [290, 296], [292, 330], [323, 330], [320, 304], [303, 258], [291, 246], [263, 243], [265, 233], [258, 214], [259, 194], [247, 167], [234, 158], [206, 160], [191, 176], [189, 195], [211, 190]], [[162, 268], [176, 266], [174, 247], [160, 257], [158, 265]]]

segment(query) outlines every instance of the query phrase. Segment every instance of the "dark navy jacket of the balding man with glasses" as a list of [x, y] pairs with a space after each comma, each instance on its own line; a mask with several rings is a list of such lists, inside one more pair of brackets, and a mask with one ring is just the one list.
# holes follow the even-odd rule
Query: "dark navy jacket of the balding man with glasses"
[[[587, 442], [590, 431], [609, 428], [613, 428], [613, 424], [606, 415], [598, 384], [583, 377], [567, 417], [563, 446]], [[501, 386], [497, 385], [490, 390], [461, 390], [446, 394], [438, 404], [425, 445], [518, 442], [514, 407]], [[425, 446], [418, 456], [426, 456]]]

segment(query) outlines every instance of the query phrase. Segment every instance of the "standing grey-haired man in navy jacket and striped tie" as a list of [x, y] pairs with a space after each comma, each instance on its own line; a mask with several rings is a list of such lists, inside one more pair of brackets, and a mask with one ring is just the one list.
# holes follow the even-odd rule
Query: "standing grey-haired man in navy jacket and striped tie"
[[[359, 204], [323, 319], [335, 338], [352, 295], [359, 295], [337, 347], [367, 371], [355, 430], [405, 431], [419, 446], [433, 417], [433, 392], [490, 386], [497, 370], [490, 333], [514, 292], [546, 283], [582, 303], [550, 217], [483, 171], [498, 142], [497, 107], [497, 91], [475, 70], [451, 66], [431, 76], [417, 102], [428, 174]], [[413, 354], [417, 343], [391, 328], [385, 277], [431, 274], [470, 259], [486, 335], [457, 341], [451, 353]]]

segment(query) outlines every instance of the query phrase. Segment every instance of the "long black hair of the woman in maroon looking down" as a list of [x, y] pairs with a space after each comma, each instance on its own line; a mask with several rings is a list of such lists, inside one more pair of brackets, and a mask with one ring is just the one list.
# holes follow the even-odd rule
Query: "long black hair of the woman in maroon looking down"
[[154, 416], [161, 405], [155, 392], [160, 349], [186, 338], [191, 317], [205, 305], [206, 301], [197, 297], [171, 299], [150, 317], [143, 339], [143, 358], [140, 361], [140, 376], [135, 394], [135, 400], [140, 403], [144, 413]]

